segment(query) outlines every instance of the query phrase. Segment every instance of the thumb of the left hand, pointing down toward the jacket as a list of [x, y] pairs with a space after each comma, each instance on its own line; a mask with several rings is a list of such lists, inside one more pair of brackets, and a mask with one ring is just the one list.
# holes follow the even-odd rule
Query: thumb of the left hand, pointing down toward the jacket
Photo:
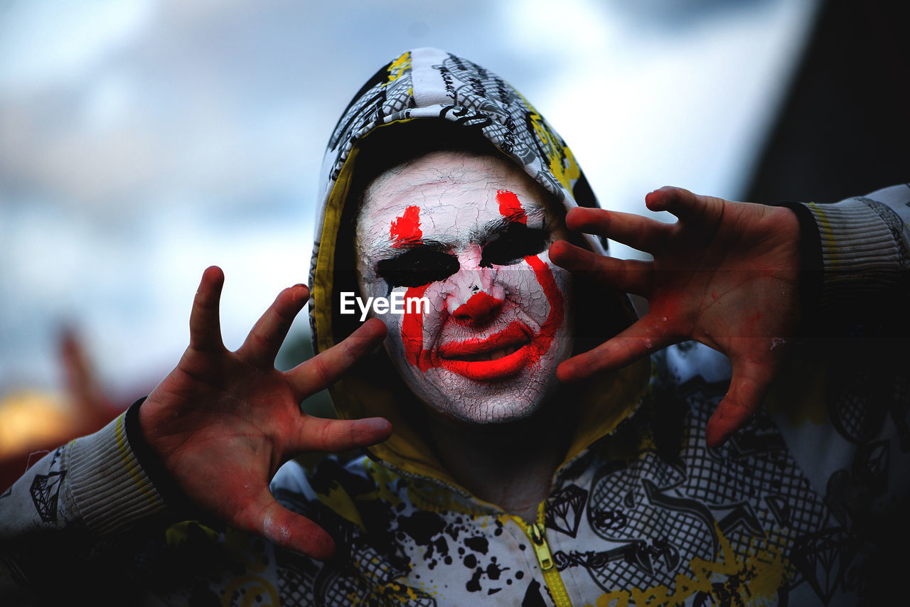
[[248, 512], [258, 512], [247, 520], [241, 516], [238, 525], [253, 531], [268, 541], [288, 550], [306, 554], [318, 561], [325, 561], [335, 553], [335, 541], [324, 529], [307, 517], [289, 511], [275, 500], [267, 488], [258, 496], [259, 507]]

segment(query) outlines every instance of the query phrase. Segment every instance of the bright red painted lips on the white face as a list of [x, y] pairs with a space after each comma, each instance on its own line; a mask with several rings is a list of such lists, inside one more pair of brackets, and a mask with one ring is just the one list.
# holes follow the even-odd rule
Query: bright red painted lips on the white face
[[476, 381], [493, 381], [521, 371], [531, 361], [531, 329], [517, 320], [486, 339], [440, 346], [440, 365]]

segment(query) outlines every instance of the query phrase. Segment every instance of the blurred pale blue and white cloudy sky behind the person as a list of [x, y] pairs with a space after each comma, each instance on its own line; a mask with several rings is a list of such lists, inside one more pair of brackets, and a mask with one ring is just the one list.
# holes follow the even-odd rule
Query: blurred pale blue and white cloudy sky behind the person
[[186, 347], [211, 264], [227, 275], [222, 329], [237, 348], [281, 288], [307, 282], [331, 128], [408, 48], [503, 76], [565, 137], [602, 205], [643, 213], [665, 184], [743, 196], [816, 9], [0, 0], [0, 397], [61, 389], [65, 325], [114, 393], [145, 393]]

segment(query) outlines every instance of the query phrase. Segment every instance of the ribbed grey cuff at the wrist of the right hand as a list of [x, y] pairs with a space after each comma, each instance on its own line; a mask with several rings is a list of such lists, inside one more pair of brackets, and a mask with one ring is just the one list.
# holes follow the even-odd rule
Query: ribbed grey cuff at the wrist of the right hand
[[[822, 247], [820, 309], [851, 306], [900, 286], [900, 249], [885, 212], [873, 200], [805, 205]], [[888, 209], [890, 210], [890, 209]]]

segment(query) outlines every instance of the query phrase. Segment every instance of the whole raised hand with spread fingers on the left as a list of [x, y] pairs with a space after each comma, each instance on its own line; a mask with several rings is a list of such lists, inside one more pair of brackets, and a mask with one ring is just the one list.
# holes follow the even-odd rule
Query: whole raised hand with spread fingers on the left
[[309, 297], [286, 288], [231, 352], [221, 341], [218, 301], [224, 274], [207, 268], [189, 317], [189, 347], [139, 409], [143, 435], [177, 485], [199, 508], [317, 559], [334, 551], [326, 531], [283, 508], [268, 491], [278, 467], [303, 451], [348, 450], [389, 438], [382, 418], [323, 420], [299, 402], [328, 387], [385, 338], [368, 320], [348, 339], [286, 373], [278, 348]]

